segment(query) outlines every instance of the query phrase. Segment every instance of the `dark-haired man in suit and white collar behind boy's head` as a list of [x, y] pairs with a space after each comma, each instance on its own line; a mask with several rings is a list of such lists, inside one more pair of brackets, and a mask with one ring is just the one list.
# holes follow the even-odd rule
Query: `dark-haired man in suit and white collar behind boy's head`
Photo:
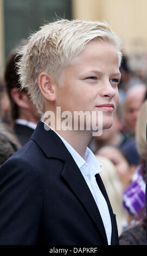
[[20, 90], [16, 64], [21, 56], [17, 54], [17, 50], [13, 50], [9, 54], [4, 78], [11, 103], [12, 127], [21, 145], [24, 145], [34, 132], [40, 120], [40, 114], [37, 112], [36, 106], [30, 101], [27, 90]]

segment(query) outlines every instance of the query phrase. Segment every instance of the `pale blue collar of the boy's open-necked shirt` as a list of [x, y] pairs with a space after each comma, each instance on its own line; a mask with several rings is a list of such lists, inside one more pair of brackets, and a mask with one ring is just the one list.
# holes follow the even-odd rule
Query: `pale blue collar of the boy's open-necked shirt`
[[101, 166], [100, 166], [99, 161], [97, 160], [97, 157], [94, 156], [94, 154], [92, 153], [92, 151], [88, 147], [86, 149], [85, 159], [83, 159], [79, 155], [79, 153], [62, 136], [59, 135], [59, 133], [57, 133], [52, 127], [50, 127], [50, 129], [52, 129], [57, 134], [57, 136], [59, 136], [61, 138], [62, 142], [65, 144], [65, 146], [68, 149], [69, 153], [71, 153], [74, 161], [78, 165], [79, 169], [82, 166], [84, 166], [84, 164], [85, 164], [85, 165], [91, 167], [91, 171], [92, 171], [94, 176], [95, 176], [95, 174], [101, 172]]

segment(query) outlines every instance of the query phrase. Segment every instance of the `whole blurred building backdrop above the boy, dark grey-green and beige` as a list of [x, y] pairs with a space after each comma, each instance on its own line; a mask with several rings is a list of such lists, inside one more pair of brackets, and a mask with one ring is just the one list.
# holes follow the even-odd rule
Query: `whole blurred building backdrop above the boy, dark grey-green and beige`
[[142, 65], [147, 59], [146, 9], [146, 0], [0, 0], [0, 76], [11, 48], [56, 16], [105, 20], [123, 40], [132, 68]]

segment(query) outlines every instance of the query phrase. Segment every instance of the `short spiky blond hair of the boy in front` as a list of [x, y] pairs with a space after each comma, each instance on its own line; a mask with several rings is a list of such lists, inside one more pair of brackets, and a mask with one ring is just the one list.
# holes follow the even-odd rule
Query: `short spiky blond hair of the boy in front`
[[93, 39], [108, 41], [118, 50], [119, 64], [121, 41], [106, 22], [82, 20], [58, 20], [48, 23], [30, 36], [28, 44], [18, 54], [18, 74], [21, 89], [27, 89], [38, 111], [43, 114], [43, 98], [37, 78], [42, 71], [52, 75], [61, 86], [61, 73], [73, 63]]

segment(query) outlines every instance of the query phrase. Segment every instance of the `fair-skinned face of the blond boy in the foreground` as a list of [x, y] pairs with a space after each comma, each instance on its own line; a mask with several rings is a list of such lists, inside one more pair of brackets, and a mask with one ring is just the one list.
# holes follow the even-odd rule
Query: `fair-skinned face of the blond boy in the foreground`
[[56, 94], [56, 106], [61, 107], [61, 113], [103, 111], [103, 129], [111, 127], [119, 100], [116, 48], [108, 42], [91, 41], [77, 62], [65, 68], [63, 77], [63, 86], [57, 87]]

